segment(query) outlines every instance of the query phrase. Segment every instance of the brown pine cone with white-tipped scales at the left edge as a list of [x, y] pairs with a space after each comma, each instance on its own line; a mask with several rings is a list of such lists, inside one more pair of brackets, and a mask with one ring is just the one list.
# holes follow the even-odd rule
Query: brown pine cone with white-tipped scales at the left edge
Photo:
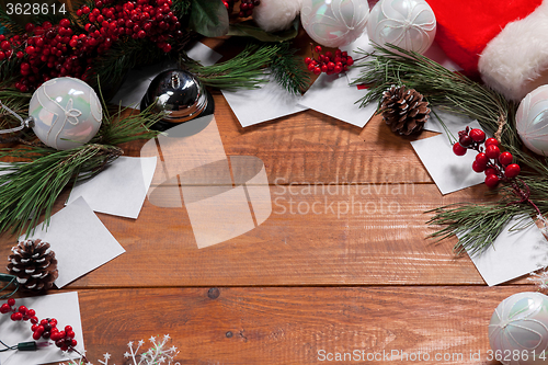
[[49, 289], [58, 276], [55, 252], [42, 240], [20, 241], [11, 249], [8, 272], [18, 277], [22, 288], [43, 292]]

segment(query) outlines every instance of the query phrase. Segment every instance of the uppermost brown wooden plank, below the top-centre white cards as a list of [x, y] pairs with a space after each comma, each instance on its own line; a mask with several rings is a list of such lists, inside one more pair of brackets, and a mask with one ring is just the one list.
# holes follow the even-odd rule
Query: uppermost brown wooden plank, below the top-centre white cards
[[[222, 95], [215, 117], [227, 155], [262, 159], [270, 182], [432, 182], [410, 140], [374, 117], [363, 129], [313, 111], [242, 128]], [[357, 106], [356, 106], [357, 107]], [[139, 156], [142, 144], [126, 152]], [[456, 158], [456, 157], [455, 157]]]

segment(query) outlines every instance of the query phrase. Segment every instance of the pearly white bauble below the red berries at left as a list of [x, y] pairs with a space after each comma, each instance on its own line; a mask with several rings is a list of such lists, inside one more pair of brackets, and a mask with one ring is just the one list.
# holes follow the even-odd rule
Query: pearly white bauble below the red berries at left
[[95, 91], [79, 79], [44, 82], [33, 94], [28, 114], [33, 130], [47, 146], [70, 149], [88, 142], [101, 127], [103, 110]]

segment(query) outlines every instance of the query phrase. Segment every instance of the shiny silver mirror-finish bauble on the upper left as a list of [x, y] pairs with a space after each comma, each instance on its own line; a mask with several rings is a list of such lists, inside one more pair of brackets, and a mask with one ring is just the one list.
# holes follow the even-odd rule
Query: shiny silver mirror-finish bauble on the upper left
[[199, 115], [213, 113], [214, 102], [203, 84], [190, 72], [168, 70], [159, 73], [141, 100], [141, 111], [152, 106], [165, 116], [155, 129], [165, 130]]

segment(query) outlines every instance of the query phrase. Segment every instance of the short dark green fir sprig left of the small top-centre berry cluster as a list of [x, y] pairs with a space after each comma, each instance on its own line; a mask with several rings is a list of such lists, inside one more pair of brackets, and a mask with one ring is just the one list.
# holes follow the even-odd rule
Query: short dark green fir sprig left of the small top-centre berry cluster
[[304, 67], [301, 57], [295, 56], [297, 49], [284, 43], [270, 66], [274, 79], [294, 95], [300, 95], [310, 87], [310, 72]]

